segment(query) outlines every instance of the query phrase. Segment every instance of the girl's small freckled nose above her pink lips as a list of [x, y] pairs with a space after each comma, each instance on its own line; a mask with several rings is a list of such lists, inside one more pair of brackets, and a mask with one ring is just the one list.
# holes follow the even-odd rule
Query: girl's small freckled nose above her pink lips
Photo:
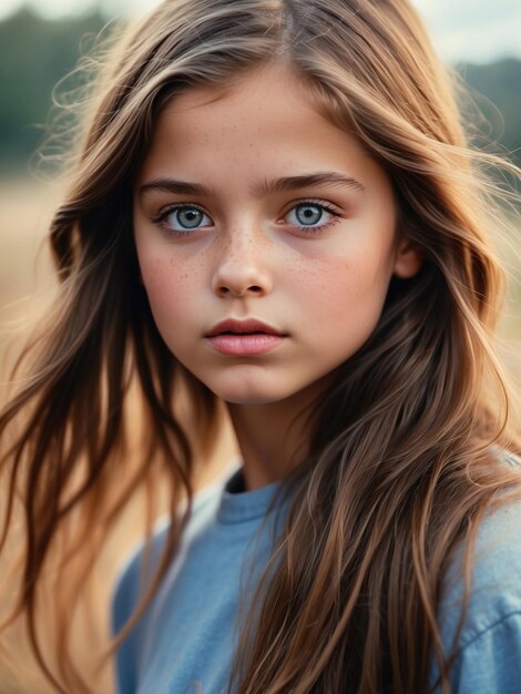
[[269, 294], [272, 275], [259, 246], [248, 235], [229, 241], [212, 279], [212, 288], [217, 296], [260, 297]]

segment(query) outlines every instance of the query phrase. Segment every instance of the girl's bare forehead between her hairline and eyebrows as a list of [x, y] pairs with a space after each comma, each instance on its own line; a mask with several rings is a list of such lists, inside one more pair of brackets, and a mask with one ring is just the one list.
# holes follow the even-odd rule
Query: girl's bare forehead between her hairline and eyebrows
[[337, 170], [382, 175], [357, 139], [329, 122], [302, 78], [263, 68], [225, 88], [190, 88], [165, 105], [140, 180], [167, 175], [239, 186], [258, 175]]

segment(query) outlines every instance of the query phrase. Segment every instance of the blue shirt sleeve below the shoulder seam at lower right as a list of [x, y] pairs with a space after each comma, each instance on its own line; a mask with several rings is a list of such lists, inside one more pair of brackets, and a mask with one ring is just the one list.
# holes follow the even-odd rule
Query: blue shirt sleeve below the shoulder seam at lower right
[[520, 612], [492, 624], [461, 650], [452, 672], [452, 691], [453, 694], [520, 693]]

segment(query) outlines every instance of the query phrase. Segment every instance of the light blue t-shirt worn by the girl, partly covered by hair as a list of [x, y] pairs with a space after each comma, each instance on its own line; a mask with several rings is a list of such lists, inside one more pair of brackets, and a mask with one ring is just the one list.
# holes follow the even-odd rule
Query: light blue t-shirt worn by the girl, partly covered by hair
[[[119, 694], [223, 694], [236, 645], [241, 595], [255, 585], [270, 557], [275, 514], [266, 518], [278, 487], [241, 488], [241, 470], [203, 490], [166, 578], [116, 653]], [[277, 517], [278, 518], [278, 517]], [[280, 525], [282, 528], [282, 525]], [[470, 610], [452, 671], [453, 694], [521, 692], [521, 503], [491, 514], [477, 545]], [[166, 527], [157, 528], [153, 558]], [[112, 603], [115, 633], [140, 595], [137, 548], [120, 574]], [[242, 572], [242, 568], [247, 569]], [[451, 576], [448, 576], [449, 585]], [[447, 650], [460, 598], [456, 580], [441, 609]], [[245, 591], [245, 592], [241, 592]]]

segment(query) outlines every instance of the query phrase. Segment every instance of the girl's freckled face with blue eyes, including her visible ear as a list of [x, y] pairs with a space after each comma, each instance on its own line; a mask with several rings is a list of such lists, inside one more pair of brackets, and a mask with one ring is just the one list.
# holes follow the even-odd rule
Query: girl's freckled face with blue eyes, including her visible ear
[[[395, 225], [384, 169], [283, 68], [172, 101], [135, 185], [135, 243], [157, 328], [228, 402], [313, 388], [364, 345], [391, 275], [419, 266]], [[263, 322], [278, 337], [208, 337], [229, 330], [216, 328], [229, 318]]]

